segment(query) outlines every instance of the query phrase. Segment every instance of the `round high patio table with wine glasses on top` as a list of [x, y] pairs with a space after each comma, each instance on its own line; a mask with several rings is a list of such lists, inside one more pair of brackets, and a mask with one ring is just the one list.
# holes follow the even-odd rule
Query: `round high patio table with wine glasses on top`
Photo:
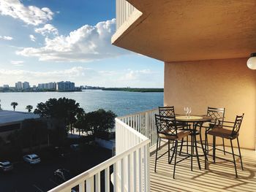
[[[206, 157], [206, 151], [203, 147], [201, 131], [199, 132], [199, 135], [200, 135], [200, 144], [202, 146], [203, 155], [198, 154], [197, 137], [196, 137], [197, 136], [197, 127], [199, 126], [201, 129], [201, 126], [203, 125], [204, 122], [211, 122], [211, 120], [213, 120], [213, 118], [208, 117], [206, 115], [190, 115], [190, 116], [176, 115], [176, 120], [178, 122], [183, 122], [183, 123], [192, 123], [192, 128], [189, 129], [189, 131], [191, 131], [191, 134], [192, 134], [191, 154], [189, 154], [189, 156], [191, 157], [191, 170], [193, 169], [193, 159], [192, 159], [193, 156], [196, 156], [198, 167], [199, 167], [199, 169], [201, 169], [199, 156], [204, 155], [205, 158], [207, 158], [207, 157]], [[195, 155], [194, 155], [194, 148], [195, 148], [195, 153], [196, 153]], [[205, 164], [205, 169], [206, 169], [206, 164]]]

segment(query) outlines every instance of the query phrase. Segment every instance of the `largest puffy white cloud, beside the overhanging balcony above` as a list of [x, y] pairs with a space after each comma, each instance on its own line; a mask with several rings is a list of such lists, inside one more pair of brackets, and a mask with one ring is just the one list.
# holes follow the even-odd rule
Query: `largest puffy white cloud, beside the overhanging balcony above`
[[88, 62], [130, 53], [111, 45], [115, 31], [116, 19], [106, 20], [96, 26], [82, 26], [68, 36], [47, 37], [44, 47], [26, 47], [17, 54], [38, 57], [39, 61]]

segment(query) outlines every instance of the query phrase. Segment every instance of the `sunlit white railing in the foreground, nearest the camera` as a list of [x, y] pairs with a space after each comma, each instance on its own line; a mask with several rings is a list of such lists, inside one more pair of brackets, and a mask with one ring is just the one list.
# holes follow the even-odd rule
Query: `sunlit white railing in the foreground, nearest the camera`
[[150, 191], [149, 143], [147, 137], [116, 118], [116, 155], [50, 192], [70, 192], [77, 186], [80, 192], [108, 192], [111, 183], [113, 191]]

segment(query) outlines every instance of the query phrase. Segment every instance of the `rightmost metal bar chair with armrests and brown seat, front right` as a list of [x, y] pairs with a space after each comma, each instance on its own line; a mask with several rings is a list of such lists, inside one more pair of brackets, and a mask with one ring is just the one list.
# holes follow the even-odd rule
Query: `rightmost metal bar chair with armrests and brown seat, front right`
[[[243, 118], [244, 118], [244, 113], [241, 116], [237, 115], [235, 122], [230, 122], [230, 121], [223, 120], [222, 121], [223, 124], [221, 124], [220, 121], [219, 121], [219, 125], [220, 126], [216, 126], [216, 127], [212, 128], [211, 130], [207, 131], [208, 135], [212, 135], [213, 136], [213, 160], [214, 160], [214, 163], [215, 163], [215, 158], [220, 158], [220, 157], [216, 157], [216, 155], [215, 155], [216, 150], [221, 150], [221, 149], [217, 149], [216, 148], [216, 137], [221, 137], [222, 139], [230, 139], [232, 153], [229, 153], [227, 151], [226, 151], [226, 153], [229, 153], [229, 154], [233, 155], [233, 161], [227, 160], [225, 158], [221, 158], [221, 159], [223, 159], [225, 161], [233, 162], [233, 164], [235, 166], [235, 171], [236, 171], [236, 159], [235, 159], [235, 156], [238, 156], [240, 158], [241, 168], [242, 168], [242, 170], [244, 170], [243, 162], [242, 162], [242, 157], [241, 157], [240, 146], [239, 146], [239, 141], [238, 141], [239, 130], [240, 130]], [[224, 125], [225, 123], [228, 123], [229, 126]], [[232, 128], [232, 130], [230, 130], [228, 128]], [[236, 155], [234, 153], [233, 143], [232, 143], [233, 139], [237, 140], [239, 155]], [[237, 171], [236, 171], [236, 177], [238, 177]]]

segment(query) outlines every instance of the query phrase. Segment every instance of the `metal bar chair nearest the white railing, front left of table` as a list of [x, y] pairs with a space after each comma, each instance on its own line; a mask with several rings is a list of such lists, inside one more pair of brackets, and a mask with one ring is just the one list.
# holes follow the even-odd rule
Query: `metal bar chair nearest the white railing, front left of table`
[[[155, 118], [156, 118], [156, 126], [157, 126], [157, 151], [156, 151], [154, 172], [157, 172], [157, 160], [159, 158], [161, 158], [163, 155], [165, 155], [166, 153], [168, 153], [168, 163], [169, 164], [171, 164], [171, 161], [173, 160], [173, 156], [174, 156], [174, 167], [173, 167], [173, 179], [174, 179], [176, 164], [185, 159], [185, 158], [181, 159], [178, 162], [176, 161], [177, 150], [178, 150], [178, 141], [180, 141], [184, 137], [187, 137], [190, 134], [190, 131], [178, 130], [175, 115], [173, 115], [173, 116], [155, 115]], [[160, 155], [159, 157], [157, 157], [157, 152], [161, 148], [161, 146], [159, 145], [161, 139], [167, 139], [168, 150], [167, 150], [167, 152], [165, 152], [162, 155]], [[170, 159], [170, 141], [175, 142], [173, 155], [172, 155], [171, 159]]]

